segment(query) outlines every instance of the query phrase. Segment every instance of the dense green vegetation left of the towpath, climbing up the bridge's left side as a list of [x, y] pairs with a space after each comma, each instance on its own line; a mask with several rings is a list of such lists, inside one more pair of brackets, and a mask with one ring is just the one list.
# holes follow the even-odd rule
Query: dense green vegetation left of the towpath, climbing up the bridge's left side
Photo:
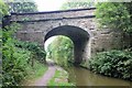
[[[19, 24], [13, 23], [10, 26], [2, 29], [2, 85], [18, 86], [20, 82], [26, 78], [29, 70], [34, 69], [33, 59], [35, 61], [35, 55], [42, 54], [42, 50], [33, 44], [28, 44], [28, 50], [24, 46], [16, 46], [16, 41], [13, 37], [13, 33], [19, 29]], [[22, 43], [22, 42], [21, 42]], [[32, 46], [32, 47], [30, 47]], [[40, 48], [37, 51], [32, 50]], [[37, 52], [37, 53], [36, 53]], [[45, 53], [43, 52], [44, 56]], [[43, 56], [43, 57], [44, 57]], [[44, 59], [44, 58], [43, 58]], [[35, 63], [35, 62], [34, 62]], [[30, 73], [31, 74], [31, 73]]]

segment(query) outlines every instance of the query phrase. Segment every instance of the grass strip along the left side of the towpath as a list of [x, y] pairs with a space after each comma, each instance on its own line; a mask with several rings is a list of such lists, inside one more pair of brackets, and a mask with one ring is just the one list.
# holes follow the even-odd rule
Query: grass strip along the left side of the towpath
[[29, 75], [22, 81], [22, 85], [25, 85], [25, 86], [30, 85], [30, 84], [33, 84], [36, 79], [42, 77], [44, 75], [44, 73], [47, 70], [47, 65], [35, 61], [34, 67], [30, 66], [28, 69], [29, 69], [28, 70]]

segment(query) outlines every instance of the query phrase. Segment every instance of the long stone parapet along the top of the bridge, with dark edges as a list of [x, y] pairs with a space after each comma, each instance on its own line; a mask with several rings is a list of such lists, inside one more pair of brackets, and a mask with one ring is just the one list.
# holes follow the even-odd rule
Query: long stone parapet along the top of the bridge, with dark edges
[[48, 19], [72, 19], [82, 16], [88, 18], [95, 15], [95, 10], [96, 8], [35, 13], [12, 13], [11, 21], [36, 21]]

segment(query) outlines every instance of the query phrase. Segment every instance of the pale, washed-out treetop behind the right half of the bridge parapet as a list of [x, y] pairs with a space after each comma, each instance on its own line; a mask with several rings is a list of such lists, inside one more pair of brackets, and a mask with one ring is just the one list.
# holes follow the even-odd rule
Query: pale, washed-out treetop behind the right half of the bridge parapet
[[70, 2], [65, 2], [61, 9], [63, 10], [68, 10], [68, 9], [86, 9], [94, 7], [95, 3], [91, 0], [85, 0], [85, 1], [70, 1]]

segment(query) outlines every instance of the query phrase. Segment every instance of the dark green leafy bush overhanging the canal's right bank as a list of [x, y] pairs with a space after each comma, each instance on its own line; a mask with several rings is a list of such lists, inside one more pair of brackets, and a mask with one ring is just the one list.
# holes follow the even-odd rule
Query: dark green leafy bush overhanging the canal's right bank
[[132, 80], [132, 52], [111, 51], [98, 53], [89, 61], [89, 68], [106, 76]]

